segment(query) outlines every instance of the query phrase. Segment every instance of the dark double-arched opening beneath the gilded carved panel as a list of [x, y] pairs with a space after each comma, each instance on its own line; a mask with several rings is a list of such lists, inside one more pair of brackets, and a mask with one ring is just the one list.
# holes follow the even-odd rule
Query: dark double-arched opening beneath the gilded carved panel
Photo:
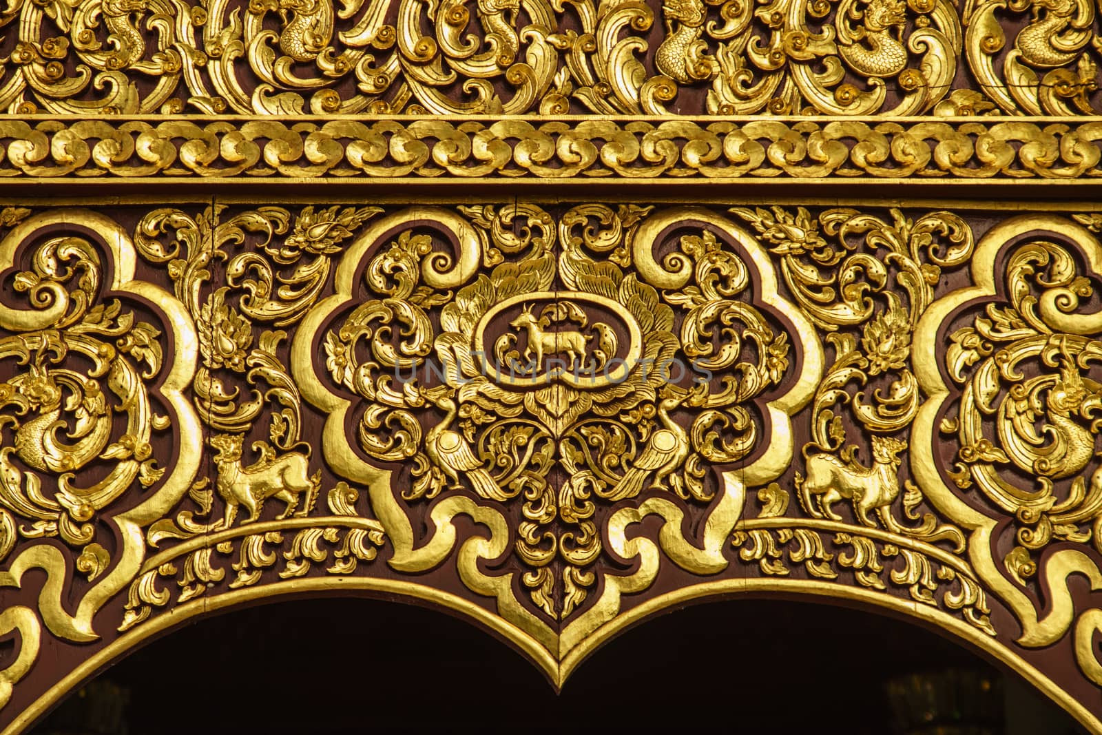
[[911, 624], [739, 599], [651, 619], [555, 694], [468, 623], [374, 599], [285, 601], [201, 618], [69, 695], [31, 732], [1083, 733], [1014, 674]]

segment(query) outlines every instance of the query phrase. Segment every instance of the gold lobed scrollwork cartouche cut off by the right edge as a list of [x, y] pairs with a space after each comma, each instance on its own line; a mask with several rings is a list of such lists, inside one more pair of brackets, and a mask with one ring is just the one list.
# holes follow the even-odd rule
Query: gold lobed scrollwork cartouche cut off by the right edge
[[[1076, 218], [1096, 229], [1096, 215]], [[1027, 215], [992, 228], [976, 246], [974, 285], [936, 301], [917, 327], [916, 342], [943, 335], [948, 345], [923, 347], [918, 378], [931, 400], [915, 425], [919, 485], [970, 533], [972, 564], [1017, 617], [1018, 644], [1071, 635], [1078, 666], [1095, 683], [1102, 614], [1074, 603], [1067, 577], [1102, 587], [1098, 556], [1084, 553], [1096, 550], [1102, 526], [1102, 394], [1091, 377], [1100, 325], [1082, 309], [1100, 255], [1091, 231], [1068, 217]], [[934, 451], [942, 442], [951, 456]]]

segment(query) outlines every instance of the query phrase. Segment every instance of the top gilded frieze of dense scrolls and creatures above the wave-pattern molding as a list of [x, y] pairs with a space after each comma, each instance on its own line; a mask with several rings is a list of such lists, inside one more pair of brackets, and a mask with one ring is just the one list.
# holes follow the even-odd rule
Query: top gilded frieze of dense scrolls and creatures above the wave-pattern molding
[[1087, 0], [14, 0], [11, 114], [1091, 115]]

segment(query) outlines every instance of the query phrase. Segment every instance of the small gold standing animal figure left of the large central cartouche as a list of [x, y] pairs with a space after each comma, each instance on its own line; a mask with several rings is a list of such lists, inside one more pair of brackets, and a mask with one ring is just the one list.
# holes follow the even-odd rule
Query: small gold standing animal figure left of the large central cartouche
[[299, 505], [299, 496], [306, 494], [306, 504], [296, 516], [305, 516], [317, 499], [317, 488], [322, 482], [322, 471], [310, 476], [309, 457], [300, 452], [289, 452], [276, 456], [271, 448], [263, 452], [261, 458], [249, 465], [241, 465], [240, 434], [216, 434], [210, 437], [210, 446], [218, 451], [214, 457], [218, 468], [218, 482], [215, 487], [218, 495], [226, 501], [226, 517], [223, 528], [229, 528], [237, 516], [237, 507], [245, 506], [249, 517], [241, 525], [250, 523], [260, 517], [264, 500], [279, 498], [287, 504], [277, 518], [283, 519], [294, 512]]

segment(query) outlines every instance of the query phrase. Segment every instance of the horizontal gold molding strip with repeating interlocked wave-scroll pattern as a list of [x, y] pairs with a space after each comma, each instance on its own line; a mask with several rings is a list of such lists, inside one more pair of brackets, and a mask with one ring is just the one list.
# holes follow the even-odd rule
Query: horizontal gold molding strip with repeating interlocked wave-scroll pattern
[[1102, 118], [0, 118], [0, 186], [121, 183], [1096, 184]]

